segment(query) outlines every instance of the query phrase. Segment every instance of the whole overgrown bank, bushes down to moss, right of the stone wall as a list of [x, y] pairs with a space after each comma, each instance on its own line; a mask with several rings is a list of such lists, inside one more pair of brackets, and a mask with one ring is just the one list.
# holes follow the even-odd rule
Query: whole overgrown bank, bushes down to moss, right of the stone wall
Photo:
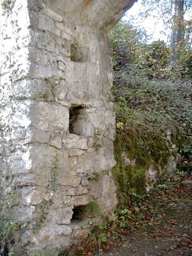
[[[162, 173], [177, 152], [182, 162], [192, 160], [192, 86], [178, 80], [192, 73], [189, 52], [180, 55], [183, 60], [180, 57], [175, 65], [176, 74], [168, 67], [170, 51], [164, 42], [141, 43], [141, 33], [129, 24], [120, 22], [110, 38], [117, 125], [114, 174], [119, 194], [126, 198], [145, 191], [145, 172], [151, 165]], [[168, 131], [172, 132], [174, 150], [170, 150]], [[124, 152], [135, 161], [134, 166], [124, 166]]]

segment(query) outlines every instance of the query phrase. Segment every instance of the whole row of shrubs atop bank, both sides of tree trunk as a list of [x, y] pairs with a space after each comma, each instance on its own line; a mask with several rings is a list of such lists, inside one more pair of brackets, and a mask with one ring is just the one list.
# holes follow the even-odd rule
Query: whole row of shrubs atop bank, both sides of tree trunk
[[[186, 22], [191, 32], [191, 22]], [[146, 44], [141, 31], [129, 22], [118, 22], [109, 33], [113, 48], [113, 67], [115, 84], [129, 84], [136, 77], [162, 79], [167, 77], [191, 79], [191, 33], [186, 35], [185, 44], [178, 45], [177, 61], [170, 68], [170, 49], [163, 41]]]

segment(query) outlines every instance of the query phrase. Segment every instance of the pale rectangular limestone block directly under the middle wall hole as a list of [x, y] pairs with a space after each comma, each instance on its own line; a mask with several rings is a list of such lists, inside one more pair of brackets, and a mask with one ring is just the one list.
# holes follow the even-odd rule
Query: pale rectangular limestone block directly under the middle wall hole
[[82, 136], [77, 136], [76, 134], [68, 134], [63, 137], [63, 143], [65, 148], [79, 148], [87, 149], [87, 139]]

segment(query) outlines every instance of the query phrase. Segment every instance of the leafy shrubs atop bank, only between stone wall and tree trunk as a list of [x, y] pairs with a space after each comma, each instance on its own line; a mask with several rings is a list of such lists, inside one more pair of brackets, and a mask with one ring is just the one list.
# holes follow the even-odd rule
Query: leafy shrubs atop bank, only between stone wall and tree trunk
[[168, 65], [169, 50], [163, 41], [144, 44], [141, 32], [127, 22], [118, 22], [109, 34], [113, 48], [115, 83], [126, 83], [135, 76], [163, 76]]

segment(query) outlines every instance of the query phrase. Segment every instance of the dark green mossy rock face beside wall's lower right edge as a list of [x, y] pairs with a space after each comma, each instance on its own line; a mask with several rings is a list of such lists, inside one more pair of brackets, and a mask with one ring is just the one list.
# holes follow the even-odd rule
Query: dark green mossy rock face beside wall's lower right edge
[[[150, 141], [151, 143], [151, 141]], [[113, 168], [118, 196], [127, 202], [130, 194], [142, 195], [146, 192], [148, 182], [147, 172], [149, 168], [160, 171], [166, 169], [170, 151], [163, 141], [154, 140], [154, 144], [148, 143], [148, 151], [142, 148], [140, 143], [128, 134], [117, 134], [115, 140], [116, 166]], [[127, 158], [127, 162], [125, 161]], [[165, 173], [166, 174], [166, 173]], [[154, 182], [154, 181], [153, 181]]]

